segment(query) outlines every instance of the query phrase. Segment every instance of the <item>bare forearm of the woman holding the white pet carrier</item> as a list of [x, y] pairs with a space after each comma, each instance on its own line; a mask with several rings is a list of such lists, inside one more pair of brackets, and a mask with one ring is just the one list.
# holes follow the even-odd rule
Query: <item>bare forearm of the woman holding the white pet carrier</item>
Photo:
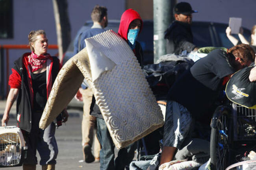
[[6, 124], [8, 123], [11, 106], [13, 106], [13, 103], [16, 100], [18, 94], [19, 94], [19, 89], [11, 88], [11, 90], [9, 91], [9, 95], [6, 101], [6, 108], [4, 110], [4, 116], [2, 118], [2, 126], [4, 126], [4, 123]]

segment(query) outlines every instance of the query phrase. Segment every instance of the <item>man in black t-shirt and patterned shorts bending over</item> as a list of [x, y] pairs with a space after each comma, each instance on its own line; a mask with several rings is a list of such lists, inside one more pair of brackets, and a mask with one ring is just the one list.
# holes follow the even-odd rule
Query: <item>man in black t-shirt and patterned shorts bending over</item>
[[[168, 92], [160, 165], [173, 160], [177, 149], [189, 137], [192, 118], [209, 122], [207, 115], [230, 76], [255, 58], [253, 49], [240, 44], [229, 49], [211, 51], [176, 80]], [[208, 113], [209, 114], [209, 113]]]

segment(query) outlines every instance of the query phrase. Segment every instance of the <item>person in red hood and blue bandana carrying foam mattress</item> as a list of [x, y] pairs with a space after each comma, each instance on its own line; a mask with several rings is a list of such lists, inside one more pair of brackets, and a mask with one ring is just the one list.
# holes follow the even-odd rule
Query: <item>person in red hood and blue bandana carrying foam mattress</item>
[[[129, 44], [130, 48], [134, 51], [139, 64], [143, 66], [143, 51], [137, 37], [141, 32], [143, 22], [139, 13], [133, 9], [127, 9], [121, 16], [118, 34]], [[95, 112], [97, 105], [93, 106]], [[99, 110], [99, 109], [98, 109]], [[102, 146], [100, 150], [100, 170], [124, 170], [134, 158], [134, 151], [137, 148], [137, 143], [130, 144], [129, 146], [119, 150], [115, 158], [114, 148], [115, 145], [111, 139], [108, 128], [104, 119], [97, 117], [97, 137]]]

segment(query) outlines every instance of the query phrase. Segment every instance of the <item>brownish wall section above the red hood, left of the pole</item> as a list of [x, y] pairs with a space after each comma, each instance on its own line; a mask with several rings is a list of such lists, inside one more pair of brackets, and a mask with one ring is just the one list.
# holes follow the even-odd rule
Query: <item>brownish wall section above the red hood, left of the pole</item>
[[143, 20], [153, 19], [153, 0], [126, 0], [126, 9], [132, 8]]

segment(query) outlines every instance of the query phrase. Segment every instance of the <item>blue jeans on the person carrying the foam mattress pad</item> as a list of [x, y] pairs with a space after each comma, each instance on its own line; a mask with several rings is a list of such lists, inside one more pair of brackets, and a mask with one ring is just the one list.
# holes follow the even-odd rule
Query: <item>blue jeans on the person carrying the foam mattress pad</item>
[[97, 118], [97, 137], [102, 146], [100, 150], [100, 170], [124, 170], [132, 162], [137, 142], [119, 150], [115, 158], [115, 145], [108, 132], [104, 119]]

